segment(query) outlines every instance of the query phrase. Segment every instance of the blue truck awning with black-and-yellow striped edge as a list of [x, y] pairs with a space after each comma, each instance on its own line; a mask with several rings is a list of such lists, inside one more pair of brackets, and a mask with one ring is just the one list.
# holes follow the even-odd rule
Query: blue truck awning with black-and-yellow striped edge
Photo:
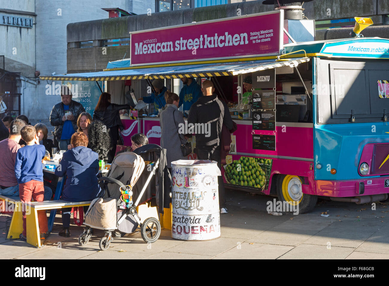
[[309, 61], [309, 58], [293, 60], [262, 60], [229, 63], [207, 63], [201, 65], [184, 65], [175, 67], [134, 68], [125, 70], [107, 70], [103, 72], [86, 72], [79, 74], [64, 74], [40, 76], [47, 80], [73, 81], [119, 81], [127, 79], [171, 79], [182, 77], [211, 77], [223, 75], [238, 75], [282, 66], [297, 66]]

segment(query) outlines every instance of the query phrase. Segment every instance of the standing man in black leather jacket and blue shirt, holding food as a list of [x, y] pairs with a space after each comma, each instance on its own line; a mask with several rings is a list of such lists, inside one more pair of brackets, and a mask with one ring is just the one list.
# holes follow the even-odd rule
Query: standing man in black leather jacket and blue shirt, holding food
[[[72, 134], [77, 130], [77, 118], [85, 112], [81, 103], [72, 100], [72, 92], [67, 86], [61, 87], [61, 102], [53, 106], [50, 123], [55, 126], [54, 137], [60, 150], [67, 150]], [[67, 113], [67, 115], [65, 115]]]

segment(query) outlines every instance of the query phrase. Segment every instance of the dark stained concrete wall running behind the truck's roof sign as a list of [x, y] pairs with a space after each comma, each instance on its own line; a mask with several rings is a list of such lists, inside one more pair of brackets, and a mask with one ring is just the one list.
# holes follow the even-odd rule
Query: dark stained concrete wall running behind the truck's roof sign
[[[274, 5], [263, 5], [263, 0], [224, 4], [209, 7], [197, 7], [179, 11], [158, 12], [147, 15], [128, 16], [98, 21], [71, 23], [67, 29], [68, 41], [68, 72], [98, 71], [106, 67], [108, 61], [121, 60], [124, 55], [128, 58], [129, 48], [126, 46], [107, 47], [107, 54], [99, 53], [101, 47], [97, 43], [94, 48], [78, 48], [82, 40], [117, 39], [128, 37], [128, 32], [140, 31], [165, 26], [181, 25], [212, 19], [234, 17], [238, 14], [254, 14], [273, 11]], [[129, 1], [130, 7], [136, 1]], [[147, 7], [144, 1], [142, 7]], [[341, 4], [340, 4], [341, 3]], [[308, 19], [330, 20], [338, 18], [352, 18], [354, 16], [371, 16], [378, 24], [384, 23], [384, 15], [389, 13], [387, 0], [315, 0], [304, 3], [304, 13]], [[144, 8], [142, 8], [144, 9]], [[135, 12], [135, 11], [134, 11]], [[318, 32], [323, 37], [322, 32]], [[109, 48], [109, 53], [108, 53]], [[87, 56], [87, 54], [89, 56]], [[94, 55], [94, 56], [93, 56]], [[95, 69], [93, 70], [93, 67]], [[80, 69], [81, 68], [81, 69]]]

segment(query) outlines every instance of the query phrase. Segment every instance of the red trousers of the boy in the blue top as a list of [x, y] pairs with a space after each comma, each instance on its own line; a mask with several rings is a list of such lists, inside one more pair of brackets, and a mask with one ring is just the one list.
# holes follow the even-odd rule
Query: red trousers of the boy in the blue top
[[[22, 203], [31, 202], [31, 199], [34, 202], [42, 202], [44, 194], [43, 182], [31, 180], [29, 182], [19, 184], [19, 197]], [[25, 209], [25, 208], [23, 208]], [[39, 232], [47, 232], [47, 216], [46, 211], [37, 211], [38, 213], [38, 223], [39, 223]], [[23, 235], [26, 235], [26, 212], [23, 211]]]

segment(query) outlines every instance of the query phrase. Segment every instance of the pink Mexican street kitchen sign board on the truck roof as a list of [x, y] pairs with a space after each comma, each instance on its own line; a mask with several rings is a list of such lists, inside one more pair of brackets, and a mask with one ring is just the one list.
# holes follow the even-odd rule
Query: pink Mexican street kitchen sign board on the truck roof
[[283, 10], [131, 33], [131, 65], [275, 55]]

